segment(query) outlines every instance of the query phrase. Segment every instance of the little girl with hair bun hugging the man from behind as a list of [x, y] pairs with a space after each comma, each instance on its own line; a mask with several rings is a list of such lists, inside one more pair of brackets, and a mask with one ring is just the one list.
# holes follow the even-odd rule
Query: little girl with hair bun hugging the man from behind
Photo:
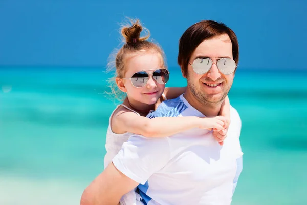
[[[146, 117], [161, 101], [178, 97], [186, 88], [165, 88], [169, 72], [164, 63], [164, 53], [157, 44], [147, 41], [149, 33], [140, 38], [142, 29], [137, 20], [132, 26], [123, 27], [121, 30], [126, 44], [116, 55], [115, 83], [120, 91], [126, 93], [126, 98], [116, 107], [109, 119], [105, 167], [111, 163], [132, 133], [146, 137], [167, 137], [192, 128], [213, 129], [218, 132], [225, 131], [229, 126], [228, 98], [222, 105], [222, 116]], [[223, 138], [216, 140], [223, 144]], [[134, 190], [124, 195], [120, 203], [136, 204]]]

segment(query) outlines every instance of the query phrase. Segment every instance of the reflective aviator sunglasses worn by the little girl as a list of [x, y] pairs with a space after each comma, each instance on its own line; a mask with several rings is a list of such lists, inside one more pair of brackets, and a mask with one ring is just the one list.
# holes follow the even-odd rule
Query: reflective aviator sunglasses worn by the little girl
[[151, 73], [140, 71], [133, 74], [130, 78], [123, 79], [131, 80], [132, 85], [134, 85], [136, 88], [142, 88], [147, 84], [149, 75], [152, 75], [152, 79], [155, 80], [158, 84], [166, 84], [169, 79], [169, 72], [164, 68], [157, 69]]

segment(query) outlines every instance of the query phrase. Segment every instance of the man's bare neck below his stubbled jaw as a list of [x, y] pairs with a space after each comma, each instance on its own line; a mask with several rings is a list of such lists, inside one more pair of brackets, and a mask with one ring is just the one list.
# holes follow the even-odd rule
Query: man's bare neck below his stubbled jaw
[[204, 101], [199, 101], [189, 89], [183, 94], [184, 98], [188, 101], [188, 103], [195, 108], [196, 110], [200, 111], [207, 117], [217, 116], [220, 113], [222, 103], [206, 103]]

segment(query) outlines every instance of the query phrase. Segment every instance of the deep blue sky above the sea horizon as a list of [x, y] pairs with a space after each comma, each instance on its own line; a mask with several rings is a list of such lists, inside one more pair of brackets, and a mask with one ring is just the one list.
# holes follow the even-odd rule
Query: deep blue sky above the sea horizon
[[307, 70], [306, 1], [191, 2], [1, 0], [0, 65], [105, 66], [128, 16], [150, 30], [169, 67], [183, 32], [212, 19], [237, 34], [240, 67]]

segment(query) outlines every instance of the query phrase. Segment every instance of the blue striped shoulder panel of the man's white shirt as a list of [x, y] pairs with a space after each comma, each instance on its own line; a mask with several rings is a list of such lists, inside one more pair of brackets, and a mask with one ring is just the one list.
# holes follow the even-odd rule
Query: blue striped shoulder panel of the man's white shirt
[[174, 98], [163, 101], [156, 111], [147, 115], [149, 119], [155, 117], [177, 117], [187, 109], [187, 105], [180, 98]]

